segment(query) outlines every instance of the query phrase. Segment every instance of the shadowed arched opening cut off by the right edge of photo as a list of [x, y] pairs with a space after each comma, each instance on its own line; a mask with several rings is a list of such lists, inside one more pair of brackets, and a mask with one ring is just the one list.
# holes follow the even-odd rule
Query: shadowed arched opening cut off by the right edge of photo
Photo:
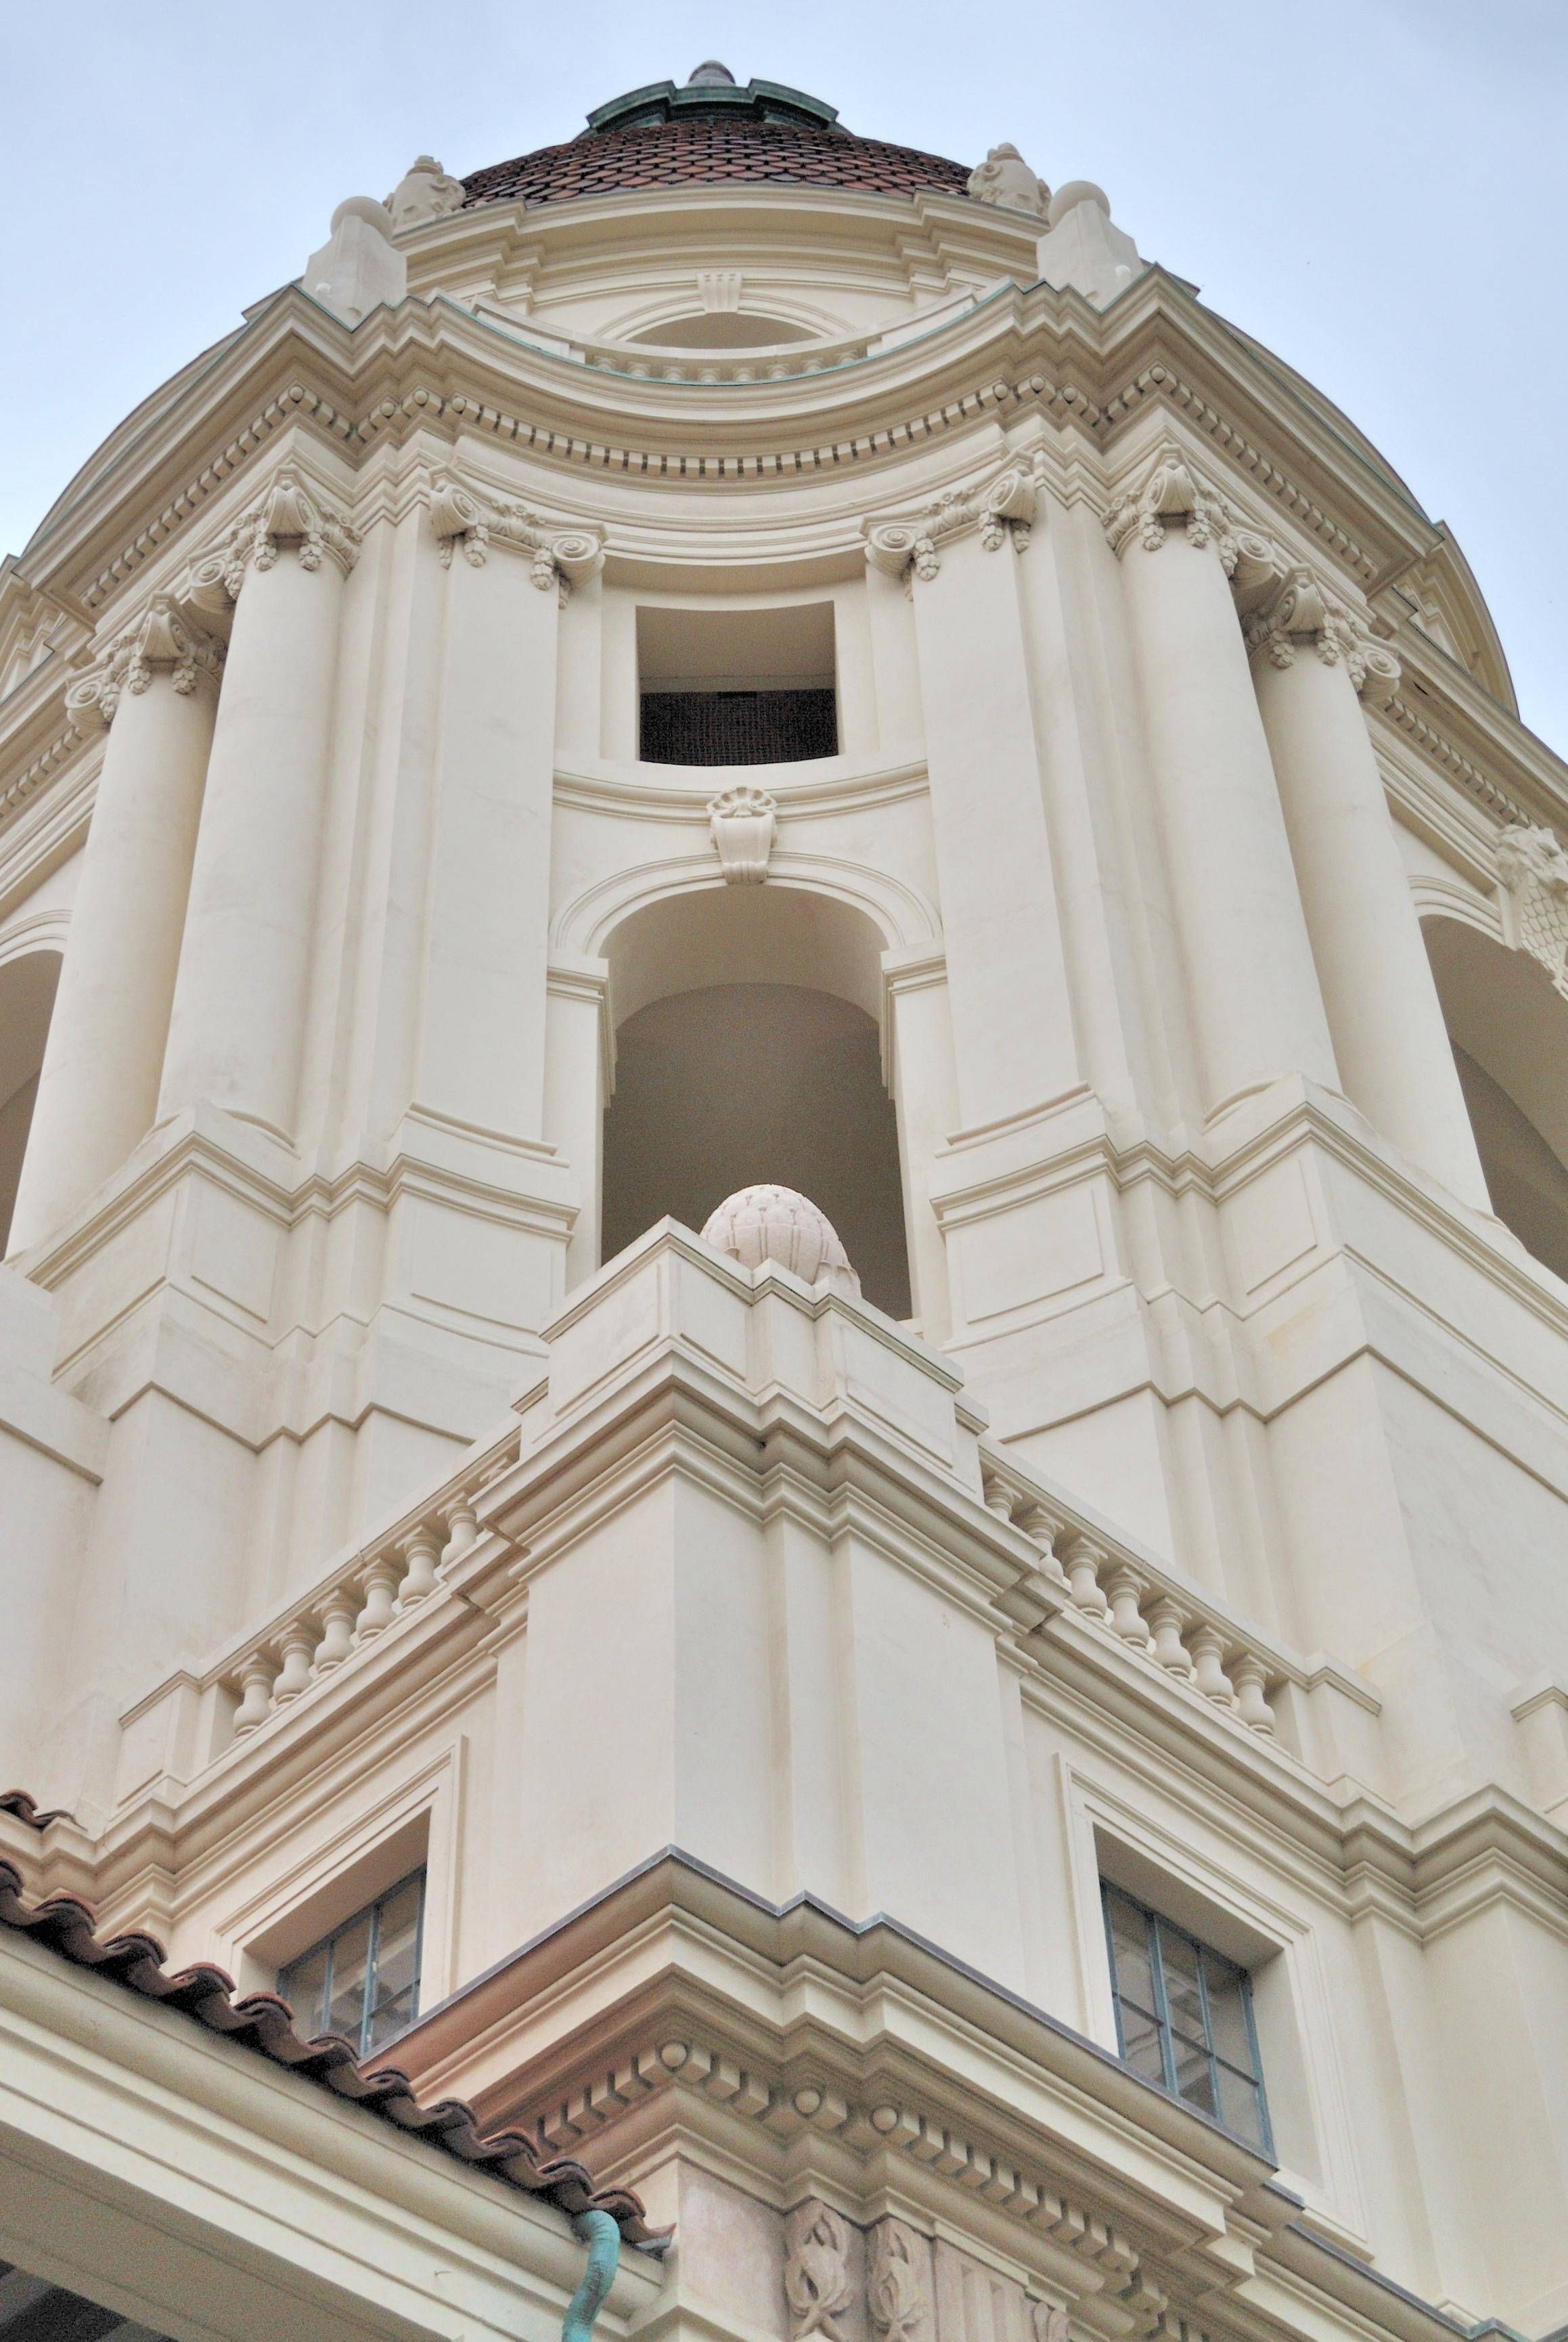
[[1423, 923], [1493, 1211], [1568, 1279], [1568, 1000], [1528, 951]]

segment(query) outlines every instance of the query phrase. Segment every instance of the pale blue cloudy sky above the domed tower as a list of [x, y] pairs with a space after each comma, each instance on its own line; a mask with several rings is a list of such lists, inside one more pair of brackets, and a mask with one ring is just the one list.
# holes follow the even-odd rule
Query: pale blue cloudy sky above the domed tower
[[705, 56], [853, 131], [1092, 178], [1383, 450], [1568, 754], [1568, 0], [84, 0], [0, 9], [0, 553], [345, 194], [553, 145]]

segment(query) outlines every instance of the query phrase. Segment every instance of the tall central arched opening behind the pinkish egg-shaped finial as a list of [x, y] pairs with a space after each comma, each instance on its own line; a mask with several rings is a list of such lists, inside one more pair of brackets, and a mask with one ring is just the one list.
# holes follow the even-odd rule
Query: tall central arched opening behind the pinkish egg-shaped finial
[[820, 1204], [865, 1297], [909, 1316], [881, 949], [863, 911], [783, 885], [666, 897], [614, 930], [605, 1260], [666, 1213], [701, 1227], [736, 1187], [776, 1180]]

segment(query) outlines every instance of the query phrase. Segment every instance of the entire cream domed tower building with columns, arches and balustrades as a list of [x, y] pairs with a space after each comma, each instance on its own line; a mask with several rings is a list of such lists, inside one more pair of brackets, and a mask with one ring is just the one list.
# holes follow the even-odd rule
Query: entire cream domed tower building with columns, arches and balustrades
[[1568, 2333], [1563, 841], [1099, 187], [340, 204], [0, 571], [0, 2342]]

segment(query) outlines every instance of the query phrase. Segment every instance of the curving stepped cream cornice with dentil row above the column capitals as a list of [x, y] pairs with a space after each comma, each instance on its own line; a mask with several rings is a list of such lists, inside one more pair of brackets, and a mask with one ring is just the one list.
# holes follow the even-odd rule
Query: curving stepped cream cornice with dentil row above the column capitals
[[[1137, 344], [1155, 328], [1170, 347], [1151, 344], [1144, 358]], [[586, 370], [450, 300], [377, 311], [349, 337], [288, 288], [206, 368], [180, 377], [159, 412], [141, 410], [122, 426], [40, 529], [23, 557], [26, 574], [47, 583], [68, 569], [68, 590], [82, 600], [103, 578], [113, 586], [115, 564], [124, 571], [136, 564], [131, 555], [145, 560], [300, 410], [312, 429], [359, 450], [380, 431], [396, 431], [398, 419], [405, 424], [405, 400], [422, 389], [422, 422], [525, 436], [537, 452], [588, 468], [670, 478], [675, 466], [675, 475], [741, 485], [783, 471], [895, 459], [909, 436], [970, 419], [970, 400], [987, 389], [994, 403], [996, 384], [1008, 398], [1038, 398], [1099, 443], [1151, 396], [1172, 398], [1202, 429], [1228, 431], [1238, 461], [1247, 464], [1252, 452], [1249, 468], [1275, 494], [1289, 489], [1305, 440], [1324, 478], [1313, 489], [1301, 485], [1294, 504], [1308, 525], [1320, 513], [1315, 527], [1327, 548], [1341, 550], [1343, 536], [1359, 564], [1380, 574], [1441, 546], [1392, 478], [1350, 445], [1343, 419], [1329, 426], [1174, 279], [1151, 269], [1111, 319], [1048, 286], [1029, 293], [1005, 286], [923, 342], [823, 375], [717, 393]], [[206, 447], [192, 475], [185, 450], [195, 436]], [[127, 546], [124, 520], [113, 513], [148, 504], [155, 513]], [[1338, 518], [1336, 504], [1345, 504]]]

